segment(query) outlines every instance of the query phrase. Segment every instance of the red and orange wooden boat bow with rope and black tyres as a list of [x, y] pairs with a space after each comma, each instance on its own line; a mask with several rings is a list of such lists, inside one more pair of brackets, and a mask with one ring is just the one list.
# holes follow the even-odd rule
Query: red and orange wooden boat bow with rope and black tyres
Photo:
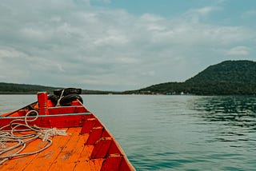
[[0, 170], [134, 170], [77, 90], [0, 115]]

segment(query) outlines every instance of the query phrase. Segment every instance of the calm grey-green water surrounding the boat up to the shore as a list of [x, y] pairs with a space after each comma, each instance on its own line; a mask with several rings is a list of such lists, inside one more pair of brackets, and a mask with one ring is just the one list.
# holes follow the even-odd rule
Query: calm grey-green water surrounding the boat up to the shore
[[[256, 97], [83, 95], [137, 170], [256, 170]], [[0, 113], [34, 95], [0, 95]]]

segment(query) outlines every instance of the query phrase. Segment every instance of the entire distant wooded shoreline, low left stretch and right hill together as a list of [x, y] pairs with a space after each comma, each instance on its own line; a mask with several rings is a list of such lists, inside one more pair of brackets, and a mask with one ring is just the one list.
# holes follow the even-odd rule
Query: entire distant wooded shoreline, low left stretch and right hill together
[[[62, 88], [0, 82], [0, 94], [36, 94], [40, 91], [53, 93], [54, 89]], [[256, 62], [221, 62], [207, 67], [185, 82], [165, 82], [126, 91], [82, 89], [82, 94], [256, 95]]]

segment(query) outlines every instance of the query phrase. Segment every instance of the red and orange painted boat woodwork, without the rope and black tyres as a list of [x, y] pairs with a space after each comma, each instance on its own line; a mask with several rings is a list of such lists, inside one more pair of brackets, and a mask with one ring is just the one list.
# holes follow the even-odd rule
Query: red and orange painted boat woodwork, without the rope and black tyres
[[[58, 107], [54, 107], [47, 99], [45, 106], [42, 107], [39, 96], [38, 101], [32, 105], [33, 108], [38, 106], [38, 118], [30, 121], [29, 125], [66, 129], [67, 135], [50, 137], [52, 144], [40, 153], [6, 159], [0, 165], [0, 170], [134, 170], [118, 142], [80, 101]], [[13, 113], [2, 114], [0, 127], [10, 124], [15, 119], [24, 118], [30, 110], [31, 105]], [[2, 131], [9, 129], [10, 126], [7, 126]], [[25, 134], [30, 132], [27, 131]], [[24, 132], [19, 134], [24, 135]], [[20, 153], [37, 151], [46, 146], [46, 143], [47, 141], [38, 138], [31, 141]], [[13, 152], [10, 150], [1, 153], [0, 157], [10, 153]]]

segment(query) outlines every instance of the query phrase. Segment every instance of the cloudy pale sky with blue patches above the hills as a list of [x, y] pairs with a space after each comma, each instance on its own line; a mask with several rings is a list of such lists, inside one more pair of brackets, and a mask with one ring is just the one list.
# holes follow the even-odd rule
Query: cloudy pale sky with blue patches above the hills
[[254, 0], [2, 0], [0, 82], [98, 90], [256, 59]]

